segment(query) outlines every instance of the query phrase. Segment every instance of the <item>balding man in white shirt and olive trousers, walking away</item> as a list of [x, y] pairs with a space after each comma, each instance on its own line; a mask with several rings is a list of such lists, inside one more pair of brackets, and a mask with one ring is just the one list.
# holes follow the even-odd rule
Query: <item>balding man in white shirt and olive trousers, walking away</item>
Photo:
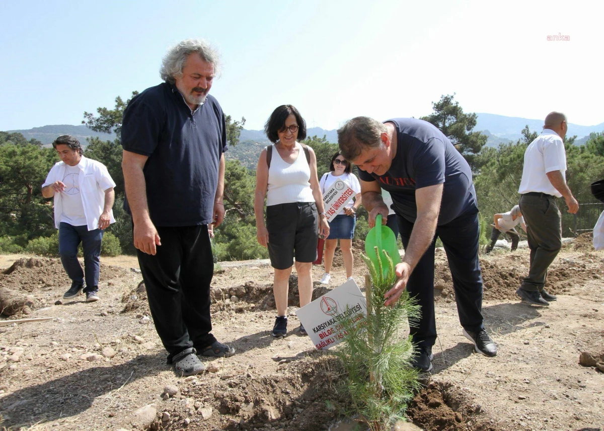
[[530, 268], [516, 294], [535, 305], [550, 305], [557, 299], [544, 289], [547, 268], [562, 247], [562, 216], [556, 198], [564, 197], [569, 213], [579, 210], [579, 203], [566, 183], [563, 140], [567, 130], [565, 115], [550, 112], [545, 117], [543, 132], [524, 152], [518, 193], [522, 195], [520, 210], [528, 227]]

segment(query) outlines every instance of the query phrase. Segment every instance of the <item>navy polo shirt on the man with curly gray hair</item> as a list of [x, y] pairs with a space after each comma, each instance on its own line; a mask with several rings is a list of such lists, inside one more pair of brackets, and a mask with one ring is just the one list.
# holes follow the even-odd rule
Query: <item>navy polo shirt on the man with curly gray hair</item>
[[[121, 146], [149, 156], [143, 172], [153, 224], [213, 221], [218, 167], [227, 149], [225, 115], [214, 97], [191, 113], [176, 86], [147, 88], [124, 111]], [[130, 213], [127, 196], [124, 209]]]

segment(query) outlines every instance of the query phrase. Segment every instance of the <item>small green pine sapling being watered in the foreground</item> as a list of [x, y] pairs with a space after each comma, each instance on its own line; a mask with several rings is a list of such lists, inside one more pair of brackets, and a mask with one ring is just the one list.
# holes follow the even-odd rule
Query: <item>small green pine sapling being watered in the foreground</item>
[[[377, 255], [377, 247], [376, 247]], [[419, 389], [417, 371], [410, 366], [413, 345], [401, 329], [407, 318], [419, 317], [419, 306], [405, 291], [394, 306], [384, 305], [384, 294], [396, 282], [394, 265], [387, 256], [388, 271], [363, 256], [370, 270], [365, 277], [367, 316], [357, 320], [349, 316], [340, 324], [346, 335], [335, 354], [347, 372], [347, 390], [353, 413], [367, 423], [371, 431], [389, 430], [403, 420], [407, 404]], [[347, 313], [344, 313], [344, 315]]]

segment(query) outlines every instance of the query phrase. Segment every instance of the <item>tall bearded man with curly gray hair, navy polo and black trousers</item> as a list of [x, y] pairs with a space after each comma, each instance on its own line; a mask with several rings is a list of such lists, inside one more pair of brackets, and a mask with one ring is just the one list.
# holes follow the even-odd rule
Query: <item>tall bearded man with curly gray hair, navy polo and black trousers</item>
[[124, 208], [153, 322], [179, 375], [204, 371], [201, 357], [235, 352], [210, 332], [208, 225], [225, 215], [225, 115], [208, 94], [219, 67], [208, 42], [179, 42], [162, 61], [165, 82], [133, 97], [121, 129]]

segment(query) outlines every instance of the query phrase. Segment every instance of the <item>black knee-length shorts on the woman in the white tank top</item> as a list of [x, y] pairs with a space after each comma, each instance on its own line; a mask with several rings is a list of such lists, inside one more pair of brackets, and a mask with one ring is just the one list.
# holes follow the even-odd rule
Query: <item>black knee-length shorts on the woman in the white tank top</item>
[[316, 261], [319, 218], [314, 202], [266, 207], [268, 254], [271, 265], [286, 270], [296, 262]]

